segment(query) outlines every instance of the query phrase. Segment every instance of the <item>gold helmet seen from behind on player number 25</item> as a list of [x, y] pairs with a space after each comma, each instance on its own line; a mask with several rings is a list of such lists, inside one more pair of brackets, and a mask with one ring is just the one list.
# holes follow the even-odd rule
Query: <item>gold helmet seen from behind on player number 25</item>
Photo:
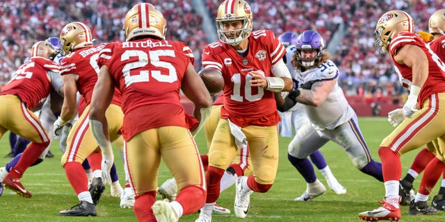
[[166, 31], [164, 16], [150, 3], [138, 3], [125, 15], [124, 35], [127, 41], [139, 35], [154, 35], [163, 40]]

